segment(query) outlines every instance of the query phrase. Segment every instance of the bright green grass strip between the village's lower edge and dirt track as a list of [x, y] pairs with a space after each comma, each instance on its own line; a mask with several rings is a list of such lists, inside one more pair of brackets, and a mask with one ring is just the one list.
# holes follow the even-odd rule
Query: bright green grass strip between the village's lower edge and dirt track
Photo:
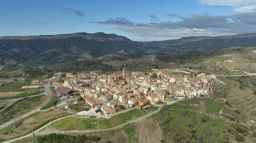
[[[116, 116], [110, 117], [110, 119], [99, 119], [98, 126], [100, 129], [112, 128], [114, 126], [118, 126], [123, 123], [126, 123], [128, 120], [131, 120], [133, 117], [142, 116], [146, 113], [147, 111], [142, 111], [135, 108], [125, 113], [121, 113]], [[71, 128], [73, 130], [96, 129], [97, 120], [69, 117], [67, 119], [63, 119], [53, 123], [52, 126], [55, 126], [56, 128], [59, 128], [59, 129]]]

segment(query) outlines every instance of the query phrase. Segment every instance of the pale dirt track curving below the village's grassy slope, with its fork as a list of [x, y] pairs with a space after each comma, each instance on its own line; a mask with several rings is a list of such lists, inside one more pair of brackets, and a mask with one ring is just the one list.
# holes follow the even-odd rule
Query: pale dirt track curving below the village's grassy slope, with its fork
[[[69, 130], [69, 131], [65, 131], [65, 133], [90, 133], [90, 132], [100, 132], [100, 131], [105, 131], [105, 130], [112, 130], [112, 129], [118, 129], [118, 128], [121, 128], [129, 123], [140, 123], [142, 122], [143, 120], [146, 120], [148, 117], [152, 116], [153, 114], [156, 114], [158, 113], [158, 111], [160, 111], [162, 109], [162, 105], [159, 105], [158, 107], [158, 110], [156, 111], [153, 111], [153, 112], [150, 112], [150, 113], [147, 113], [147, 114], [144, 114], [143, 116], [140, 116], [140, 117], [136, 117], [135, 119], [132, 119], [132, 120], [129, 120], [128, 122], [126, 123], [123, 123], [121, 125], [118, 125], [118, 126], [115, 126], [113, 128], [108, 128], [108, 129], [94, 129], [94, 130]], [[70, 116], [68, 116], [70, 117]], [[66, 117], [62, 117], [61, 119], [64, 119]], [[35, 130], [35, 134], [37, 135], [49, 135], [50, 133], [62, 133], [64, 132], [63, 130], [50, 130], [50, 131], [47, 131], [47, 132], [40, 132], [40, 130], [46, 128], [47, 126], [51, 125], [52, 123], [58, 121], [58, 120], [61, 120], [61, 119], [57, 119], [57, 120], [54, 120], [53, 122], [50, 122], [48, 123], [47, 125], [44, 125], [42, 128], [38, 129], [38, 130]], [[19, 141], [20, 139], [24, 139], [24, 138], [28, 138], [28, 137], [31, 137], [32, 136], [32, 133], [29, 133], [28, 135], [26, 136], [22, 136], [20, 138], [16, 138], [16, 139], [12, 139], [10, 141], [5, 141], [3, 143], [9, 143], [9, 142], [15, 142], [15, 141]]]

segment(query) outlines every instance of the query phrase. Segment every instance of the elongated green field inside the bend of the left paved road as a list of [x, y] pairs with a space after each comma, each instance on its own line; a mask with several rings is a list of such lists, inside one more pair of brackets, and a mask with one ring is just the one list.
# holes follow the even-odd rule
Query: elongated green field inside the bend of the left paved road
[[41, 95], [38, 97], [24, 98], [18, 104], [13, 104], [14, 107], [10, 107], [5, 110], [4, 113], [0, 115], [0, 124], [3, 124], [11, 119], [19, 117], [22, 114], [28, 113], [32, 109], [38, 107], [44, 99], [46, 95]]

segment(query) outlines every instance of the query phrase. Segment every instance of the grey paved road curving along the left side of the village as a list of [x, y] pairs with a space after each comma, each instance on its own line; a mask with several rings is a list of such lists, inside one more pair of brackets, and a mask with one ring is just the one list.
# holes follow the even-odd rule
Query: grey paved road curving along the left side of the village
[[[46, 85], [44, 85], [44, 90], [45, 90], [44, 93], [43, 94], [39, 94], [39, 95], [44, 95], [44, 94], [47, 95], [47, 98], [43, 102], [43, 104], [41, 104], [39, 107], [35, 108], [34, 110], [30, 111], [29, 113], [23, 114], [22, 116], [17, 117], [16, 119], [10, 120], [9, 122], [0, 125], [0, 129], [5, 128], [5, 127], [7, 127], [7, 126], [9, 126], [9, 125], [11, 125], [11, 124], [13, 124], [13, 123], [15, 123], [15, 122], [25, 118], [25, 117], [27, 117], [27, 116], [37, 112], [37, 111], [40, 111], [40, 108], [44, 107], [44, 105], [46, 105], [50, 101], [50, 99], [52, 98], [52, 92], [50, 91], [49, 86], [50, 86], [50, 82], [48, 82]], [[34, 95], [34, 96], [31, 96], [31, 97], [35, 97], [35, 96], [39, 96], [39, 95]]]

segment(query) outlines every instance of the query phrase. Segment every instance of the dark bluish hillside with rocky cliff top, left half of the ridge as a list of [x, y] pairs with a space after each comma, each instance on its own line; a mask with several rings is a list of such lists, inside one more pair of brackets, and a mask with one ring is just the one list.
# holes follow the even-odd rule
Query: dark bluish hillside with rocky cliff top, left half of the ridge
[[74, 33], [70, 35], [14, 36], [0, 38], [0, 64], [23, 63], [39, 66], [76, 60], [84, 54], [97, 58], [124, 49], [140, 51], [141, 43], [123, 36], [105, 33]]

